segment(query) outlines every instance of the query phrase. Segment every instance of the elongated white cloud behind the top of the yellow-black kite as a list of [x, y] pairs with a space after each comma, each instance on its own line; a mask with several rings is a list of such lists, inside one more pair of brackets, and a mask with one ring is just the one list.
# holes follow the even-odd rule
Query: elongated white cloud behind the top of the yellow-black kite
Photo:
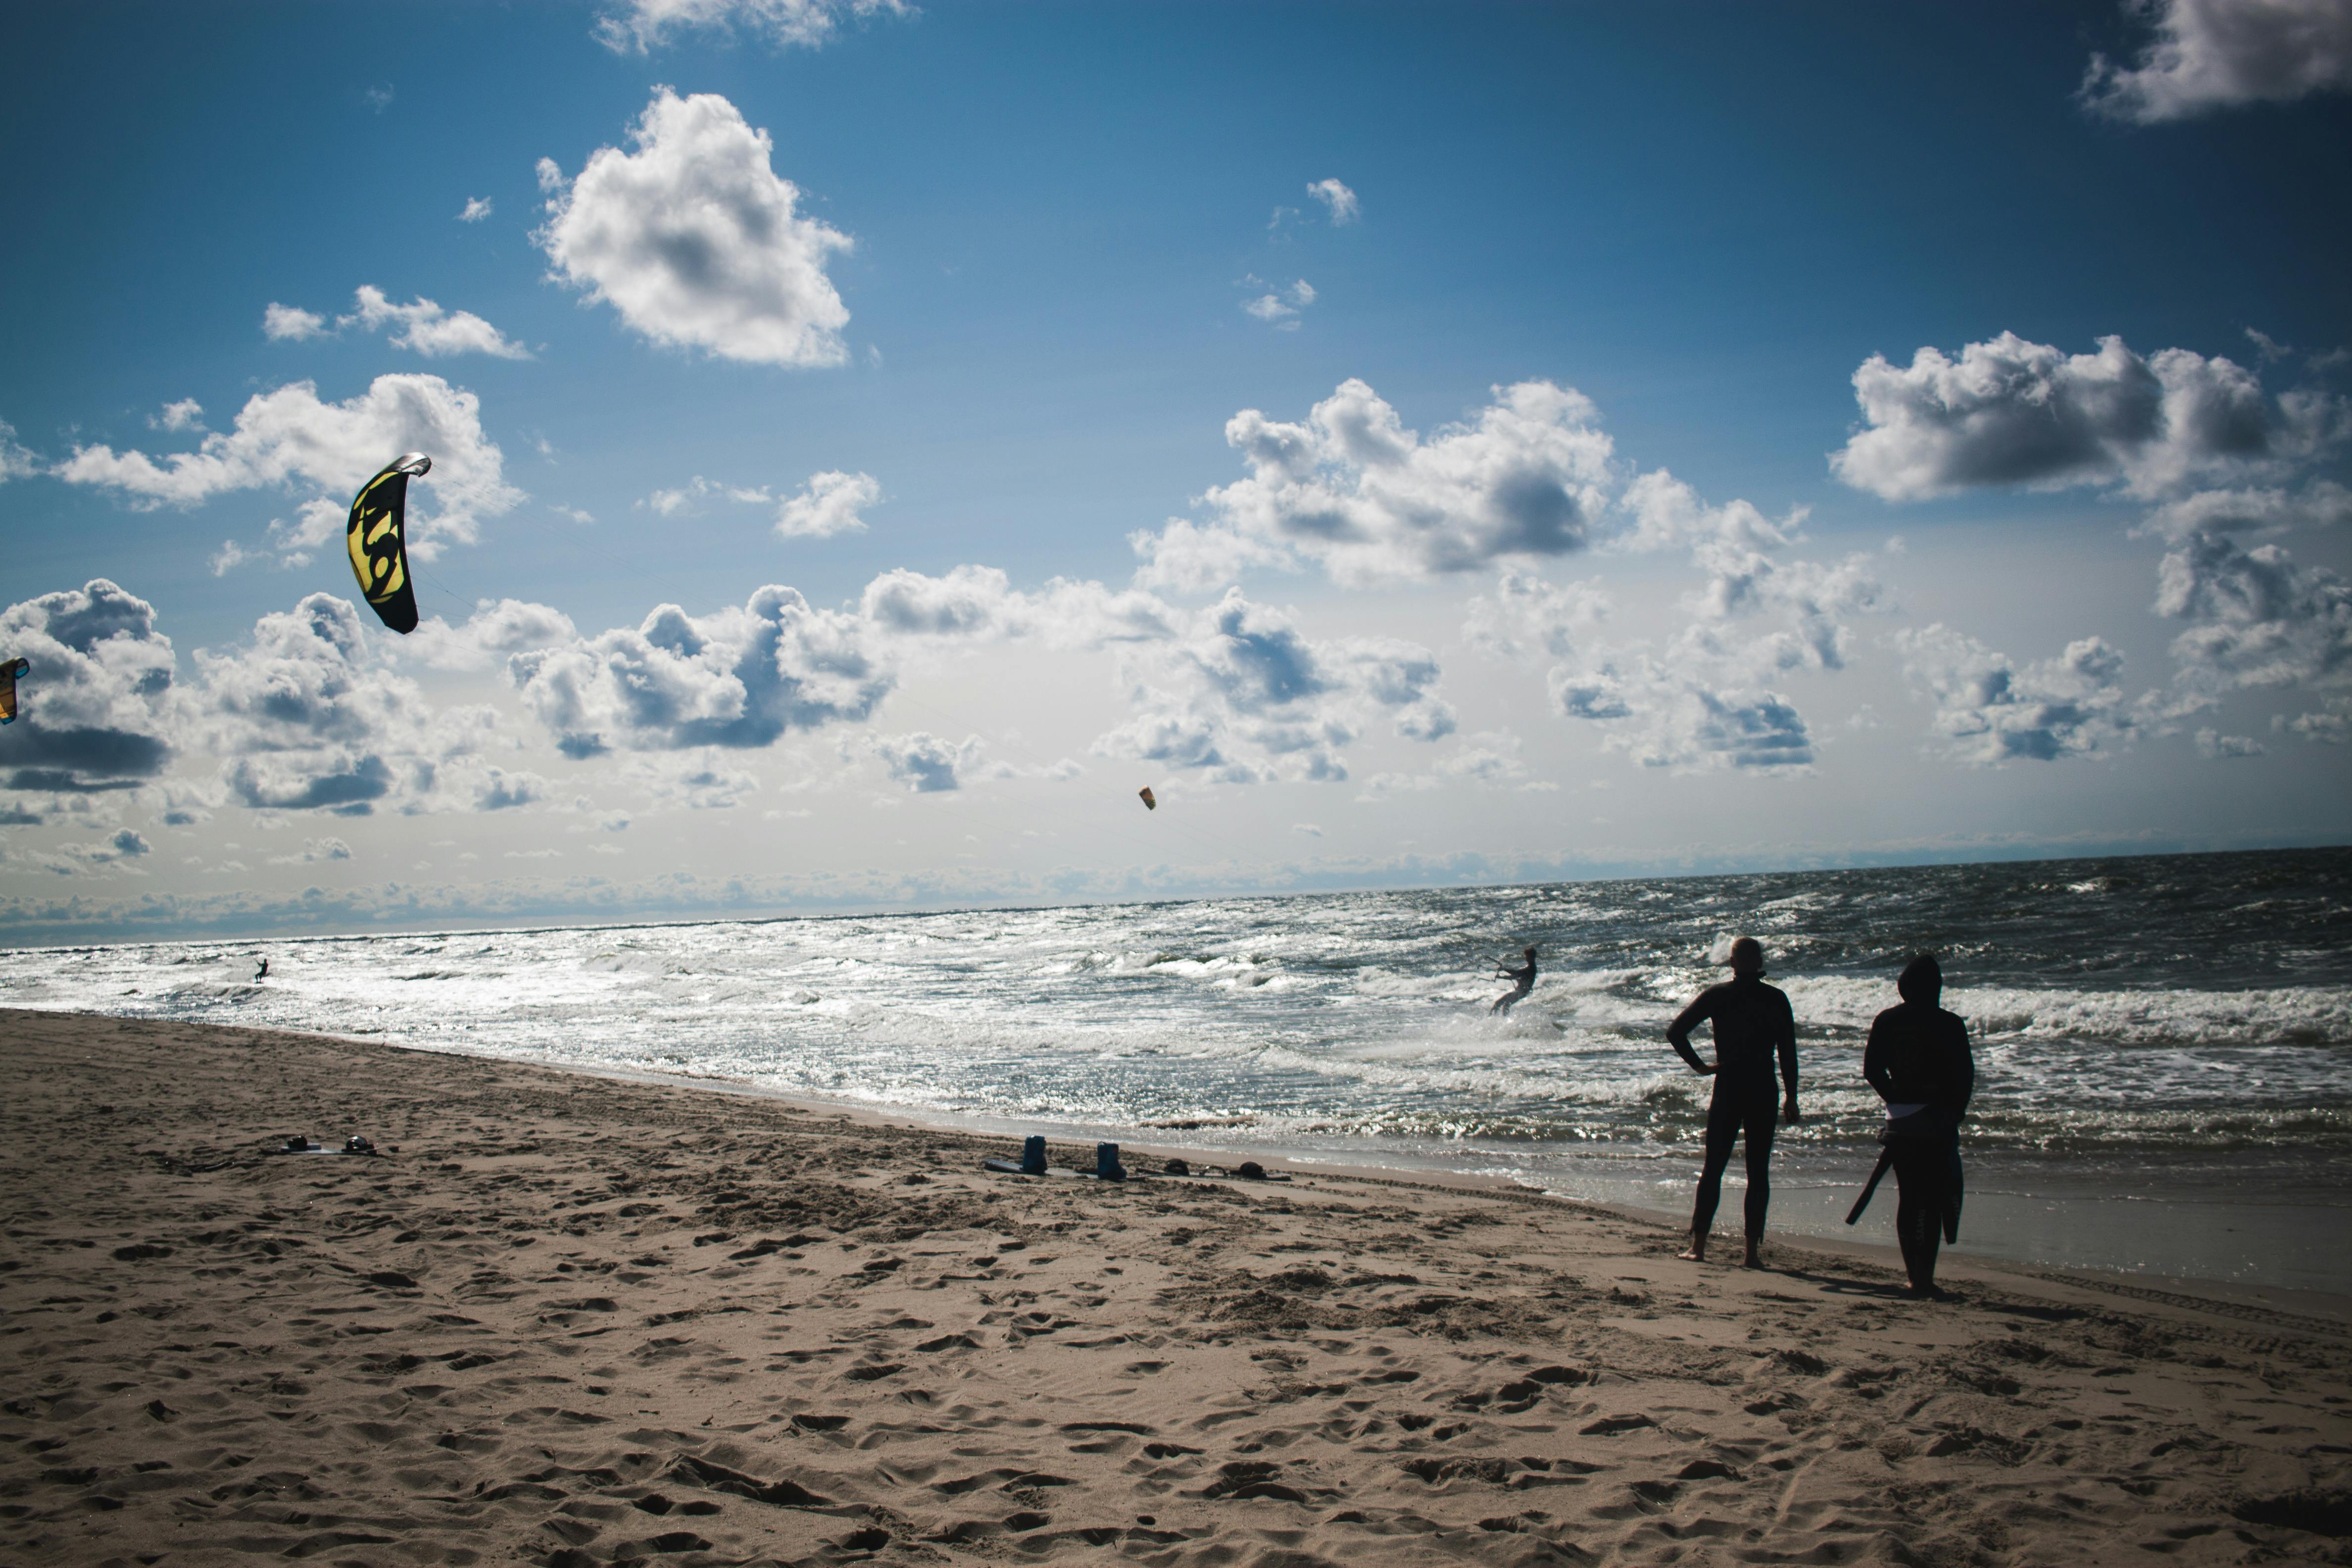
[[430, 559], [440, 543], [473, 543], [480, 520], [522, 501], [506, 482], [506, 456], [482, 435], [482, 402], [440, 376], [376, 376], [348, 402], [320, 402], [318, 386], [292, 381], [238, 409], [235, 430], [212, 433], [195, 451], [75, 447], [56, 465], [68, 484], [111, 489], [134, 508], [200, 505], [240, 489], [318, 487], [282, 548], [336, 538], [350, 494], [395, 451], [428, 451], [433, 473], [409, 482], [433, 508], [409, 510], [409, 548]]

